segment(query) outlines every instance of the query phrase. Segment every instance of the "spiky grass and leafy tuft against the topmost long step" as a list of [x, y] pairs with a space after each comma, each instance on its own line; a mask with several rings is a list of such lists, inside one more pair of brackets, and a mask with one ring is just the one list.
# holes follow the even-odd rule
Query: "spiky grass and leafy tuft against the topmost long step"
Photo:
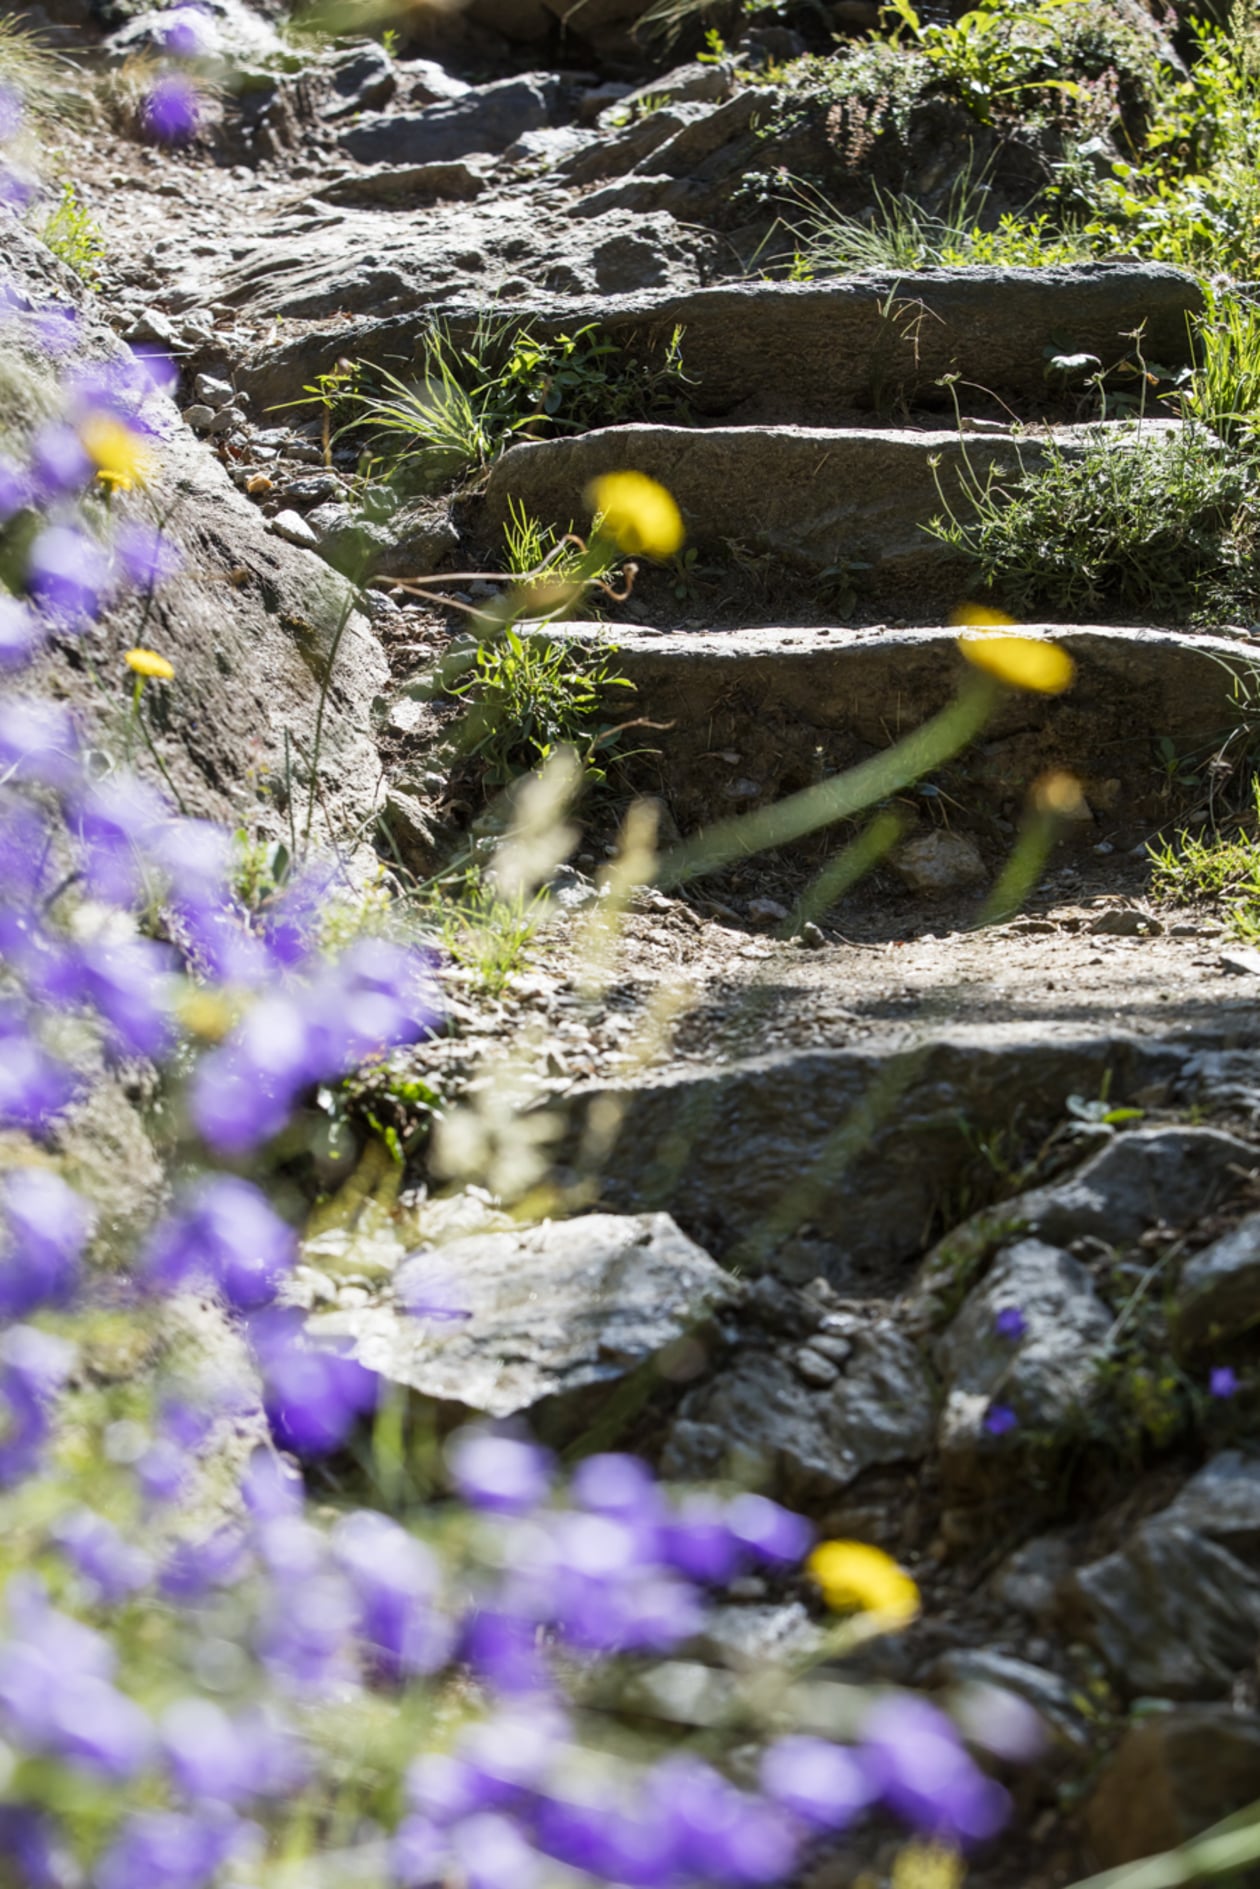
[[366, 431], [382, 440], [391, 467], [444, 485], [487, 465], [518, 436], [676, 410], [686, 382], [682, 329], [652, 365], [601, 336], [595, 321], [550, 338], [489, 319], [468, 336], [438, 325], [421, 344], [416, 380], [387, 368], [376, 378], [376, 391], [346, 389], [353, 419], [342, 431]]

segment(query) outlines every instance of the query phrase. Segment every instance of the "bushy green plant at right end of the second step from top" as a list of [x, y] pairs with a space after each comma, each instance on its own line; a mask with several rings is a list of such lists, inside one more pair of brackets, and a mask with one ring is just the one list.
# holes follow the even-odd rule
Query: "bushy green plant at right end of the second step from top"
[[1014, 616], [1090, 621], [1120, 604], [1184, 621], [1260, 606], [1254, 465], [1200, 427], [1141, 442], [1107, 429], [1071, 457], [1050, 440], [1039, 467], [965, 485], [971, 516], [941, 491], [926, 529]]

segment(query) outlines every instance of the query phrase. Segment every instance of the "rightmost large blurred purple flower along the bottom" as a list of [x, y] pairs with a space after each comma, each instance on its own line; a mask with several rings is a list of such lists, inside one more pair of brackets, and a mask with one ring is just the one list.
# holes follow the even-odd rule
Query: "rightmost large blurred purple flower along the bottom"
[[861, 1738], [873, 1791], [918, 1830], [975, 1844], [1001, 1829], [1007, 1793], [979, 1770], [952, 1723], [926, 1698], [882, 1698], [867, 1713]]

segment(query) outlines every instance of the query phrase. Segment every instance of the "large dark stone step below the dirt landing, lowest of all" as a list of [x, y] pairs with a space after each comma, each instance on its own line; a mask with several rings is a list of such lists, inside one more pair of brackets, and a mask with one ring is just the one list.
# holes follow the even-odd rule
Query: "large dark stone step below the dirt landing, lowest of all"
[[[601, 1209], [667, 1211], [737, 1271], [895, 1296], [952, 1224], [952, 1194], [975, 1175], [980, 1143], [1014, 1132], [996, 1143], [1014, 1156], [1016, 1143], [1064, 1122], [1069, 1096], [1190, 1107], [1211, 1056], [1258, 1039], [1239, 1001], [1203, 1005], [1181, 1035], [967, 1020], [899, 1043], [886, 1031], [854, 1047], [674, 1065], [572, 1090], [569, 1154], [584, 1181], [595, 1169]], [[608, 1152], [584, 1166], [591, 1145]]]

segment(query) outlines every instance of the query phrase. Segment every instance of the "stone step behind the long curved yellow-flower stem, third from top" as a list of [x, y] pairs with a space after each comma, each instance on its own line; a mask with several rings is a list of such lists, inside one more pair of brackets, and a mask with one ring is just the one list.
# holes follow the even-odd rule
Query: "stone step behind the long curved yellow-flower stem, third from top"
[[[1018, 818], [1037, 774], [1069, 769], [1094, 812], [1081, 835], [1135, 844], [1177, 812], [1156, 742], [1167, 737], [1198, 761], [1217, 752], [1245, 722], [1234, 678], [1254, 676], [1252, 646], [1143, 627], [1024, 633], [1054, 637], [1077, 678], [1064, 695], [997, 703], [956, 763], [962, 824]], [[652, 727], [654, 752], [633, 763], [633, 778], [665, 799], [684, 833], [863, 761], [937, 714], [969, 671], [960, 633], [946, 627], [663, 633], [565, 623], [563, 635], [616, 644], [616, 667], [637, 691], [633, 714]]]

